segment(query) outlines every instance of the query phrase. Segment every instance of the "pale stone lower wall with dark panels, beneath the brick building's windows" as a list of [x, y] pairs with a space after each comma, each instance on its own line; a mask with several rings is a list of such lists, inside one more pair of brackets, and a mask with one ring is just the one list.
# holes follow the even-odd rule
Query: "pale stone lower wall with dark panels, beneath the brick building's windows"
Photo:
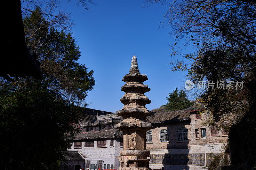
[[223, 150], [222, 143], [191, 145], [190, 149], [155, 149], [150, 150], [152, 157], [149, 162], [151, 169], [184, 167], [183, 169], [199, 169], [208, 166], [215, 155]]

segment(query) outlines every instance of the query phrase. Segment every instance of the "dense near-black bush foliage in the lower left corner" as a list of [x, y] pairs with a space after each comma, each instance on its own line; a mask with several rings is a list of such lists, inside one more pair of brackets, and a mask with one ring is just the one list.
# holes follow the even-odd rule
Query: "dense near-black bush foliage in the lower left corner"
[[3, 169], [58, 169], [78, 129], [77, 109], [45, 89], [1, 94]]

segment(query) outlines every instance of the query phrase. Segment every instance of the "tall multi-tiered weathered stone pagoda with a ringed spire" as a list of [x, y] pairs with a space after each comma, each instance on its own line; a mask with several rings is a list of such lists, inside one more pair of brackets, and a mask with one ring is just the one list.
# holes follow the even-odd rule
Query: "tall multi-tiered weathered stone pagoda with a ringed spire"
[[122, 170], [149, 170], [149, 154], [146, 150], [146, 132], [152, 128], [151, 123], [146, 121], [146, 117], [152, 115], [145, 105], [151, 100], [144, 95], [150, 91], [148, 85], [143, 82], [148, 80], [146, 74], [140, 74], [137, 58], [132, 57], [130, 73], [124, 76], [126, 83], [121, 90], [125, 93], [120, 99], [124, 104], [116, 114], [122, 116], [124, 120], [115, 125], [116, 129], [123, 131], [123, 151], [119, 151], [119, 158]]

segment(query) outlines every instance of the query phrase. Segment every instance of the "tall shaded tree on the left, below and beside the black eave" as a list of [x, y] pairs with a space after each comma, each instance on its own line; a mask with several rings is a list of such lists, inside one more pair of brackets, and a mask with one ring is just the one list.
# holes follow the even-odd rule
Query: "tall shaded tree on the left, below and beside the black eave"
[[[0, 165], [3, 169], [56, 169], [65, 161], [93, 89], [93, 71], [77, 63], [70, 33], [53, 28], [39, 7], [23, 18], [27, 46], [41, 63], [43, 79], [0, 78]], [[15, 49], [14, 49], [15, 50]]]

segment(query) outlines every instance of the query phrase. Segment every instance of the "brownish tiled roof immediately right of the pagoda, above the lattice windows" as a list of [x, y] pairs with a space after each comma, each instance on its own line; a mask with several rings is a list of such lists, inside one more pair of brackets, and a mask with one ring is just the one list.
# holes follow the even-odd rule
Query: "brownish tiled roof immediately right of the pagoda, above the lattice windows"
[[165, 122], [179, 122], [179, 121], [188, 121], [190, 119], [189, 112], [184, 110], [175, 110], [164, 113], [155, 113], [152, 116], [147, 117], [147, 122], [155, 123], [165, 123]]

